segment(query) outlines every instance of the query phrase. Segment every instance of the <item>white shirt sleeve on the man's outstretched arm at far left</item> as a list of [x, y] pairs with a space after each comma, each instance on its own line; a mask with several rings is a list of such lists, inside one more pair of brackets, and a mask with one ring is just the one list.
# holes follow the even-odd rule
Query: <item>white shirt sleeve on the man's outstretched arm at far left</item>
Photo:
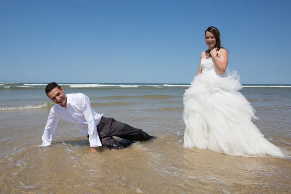
[[43, 143], [41, 146], [49, 146], [52, 141], [52, 136], [55, 133], [59, 123], [62, 119], [60, 119], [53, 111], [53, 108], [50, 109], [49, 117], [47, 120], [47, 125], [45, 127], [44, 134], [42, 136]]

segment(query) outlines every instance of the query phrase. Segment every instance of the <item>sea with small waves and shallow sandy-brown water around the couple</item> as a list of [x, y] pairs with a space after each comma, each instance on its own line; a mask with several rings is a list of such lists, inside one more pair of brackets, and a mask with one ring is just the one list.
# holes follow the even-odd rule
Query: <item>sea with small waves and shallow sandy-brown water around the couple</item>
[[92, 107], [157, 139], [90, 153], [87, 137], [62, 121], [40, 148], [53, 103], [46, 83], [0, 83], [0, 193], [291, 193], [291, 85], [243, 85], [254, 123], [289, 157], [237, 157], [183, 148], [182, 96], [189, 84], [61, 83]]

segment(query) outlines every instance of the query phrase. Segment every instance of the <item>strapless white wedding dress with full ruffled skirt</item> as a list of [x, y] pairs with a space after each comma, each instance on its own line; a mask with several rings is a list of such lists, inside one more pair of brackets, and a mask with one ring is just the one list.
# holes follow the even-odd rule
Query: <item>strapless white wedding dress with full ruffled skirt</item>
[[239, 92], [236, 72], [220, 76], [213, 59], [201, 59], [202, 74], [195, 76], [183, 96], [186, 125], [184, 147], [228, 155], [284, 157], [253, 124], [255, 110]]

